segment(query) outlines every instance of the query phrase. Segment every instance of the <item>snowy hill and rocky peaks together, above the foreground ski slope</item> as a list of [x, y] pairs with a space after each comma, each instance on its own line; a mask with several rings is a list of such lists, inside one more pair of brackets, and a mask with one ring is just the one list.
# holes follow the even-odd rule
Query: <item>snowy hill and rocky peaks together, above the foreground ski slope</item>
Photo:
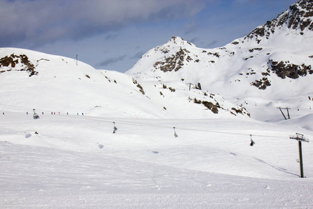
[[292, 116], [305, 116], [313, 107], [312, 24], [312, 1], [298, 1], [224, 47], [201, 49], [173, 36], [126, 74], [1, 48], [1, 104], [72, 114], [261, 121], [282, 118], [276, 108], [289, 107]]

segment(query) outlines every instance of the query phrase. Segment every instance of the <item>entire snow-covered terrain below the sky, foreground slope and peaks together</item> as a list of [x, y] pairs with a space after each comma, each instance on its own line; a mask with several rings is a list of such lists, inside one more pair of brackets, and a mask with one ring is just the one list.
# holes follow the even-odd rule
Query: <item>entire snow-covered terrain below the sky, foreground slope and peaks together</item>
[[125, 74], [0, 48], [0, 208], [313, 208], [312, 141], [299, 178], [289, 138], [313, 139], [306, 5], [225, 47], [173, 36]]

